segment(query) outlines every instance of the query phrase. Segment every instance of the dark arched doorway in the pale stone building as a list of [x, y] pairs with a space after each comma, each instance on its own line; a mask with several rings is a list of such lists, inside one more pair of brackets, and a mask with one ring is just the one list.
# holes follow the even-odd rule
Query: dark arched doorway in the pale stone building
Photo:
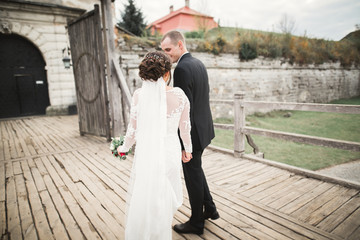
[[18, 35], [0, 33], [0, 118], [45, 114], [49, 105], [38, 48]]

